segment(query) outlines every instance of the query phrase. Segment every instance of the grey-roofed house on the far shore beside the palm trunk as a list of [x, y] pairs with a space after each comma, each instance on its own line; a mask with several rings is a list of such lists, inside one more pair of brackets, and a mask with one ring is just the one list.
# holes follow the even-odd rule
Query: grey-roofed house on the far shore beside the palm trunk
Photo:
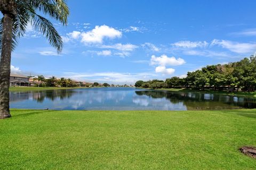
[[10, 86], [30, 86], [29, 78], [23, 75], [11, 74]]

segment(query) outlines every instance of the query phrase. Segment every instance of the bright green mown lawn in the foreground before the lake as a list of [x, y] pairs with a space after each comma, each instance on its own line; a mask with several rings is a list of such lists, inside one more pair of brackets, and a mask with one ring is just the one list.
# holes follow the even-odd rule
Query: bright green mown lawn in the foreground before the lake
[[256, 169], [256, 110], [33, 111], [0, 120], [0, 169]]

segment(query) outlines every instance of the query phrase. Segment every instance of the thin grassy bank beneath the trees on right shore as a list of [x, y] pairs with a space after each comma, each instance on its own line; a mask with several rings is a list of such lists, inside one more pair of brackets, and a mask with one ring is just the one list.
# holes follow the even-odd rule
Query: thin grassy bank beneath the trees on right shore
[[[150, 89], [153, 90], [151, 88], [138, 88], [138, 89]], [[162, 90], [162, 91], [173, 91], [173, 92], [196, 92], [196, 93], [209, 93], [209, 94], [218, 94], [218, 95], [230, 95], [230, 96], [248, 96], [248, 97], [256, 97], [256, 92], [228, 92], [228, 91], [213, 91], [213, 90], [193, 90], [193, 89], [166, 89], [166, 88], [162, 88], [162, 89], [154, 89], [154, 90]]]

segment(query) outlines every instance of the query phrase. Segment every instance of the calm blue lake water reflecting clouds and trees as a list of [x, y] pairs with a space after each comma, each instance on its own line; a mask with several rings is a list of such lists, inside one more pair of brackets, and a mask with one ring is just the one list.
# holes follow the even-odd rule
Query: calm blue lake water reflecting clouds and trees
[[90, 88], [10, 92], [11, 108], [164, 110], [256, 108], [256, 98], [135, 88]]

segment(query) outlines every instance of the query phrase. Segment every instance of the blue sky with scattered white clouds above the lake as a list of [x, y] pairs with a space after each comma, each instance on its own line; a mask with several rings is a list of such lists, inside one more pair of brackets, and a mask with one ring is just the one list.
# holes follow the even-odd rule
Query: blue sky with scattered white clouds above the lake
[[185, 77], [256, 51], [256, 1], [67, 1], [60, 55], [29, 25], [12, 72], [132, 84]]

